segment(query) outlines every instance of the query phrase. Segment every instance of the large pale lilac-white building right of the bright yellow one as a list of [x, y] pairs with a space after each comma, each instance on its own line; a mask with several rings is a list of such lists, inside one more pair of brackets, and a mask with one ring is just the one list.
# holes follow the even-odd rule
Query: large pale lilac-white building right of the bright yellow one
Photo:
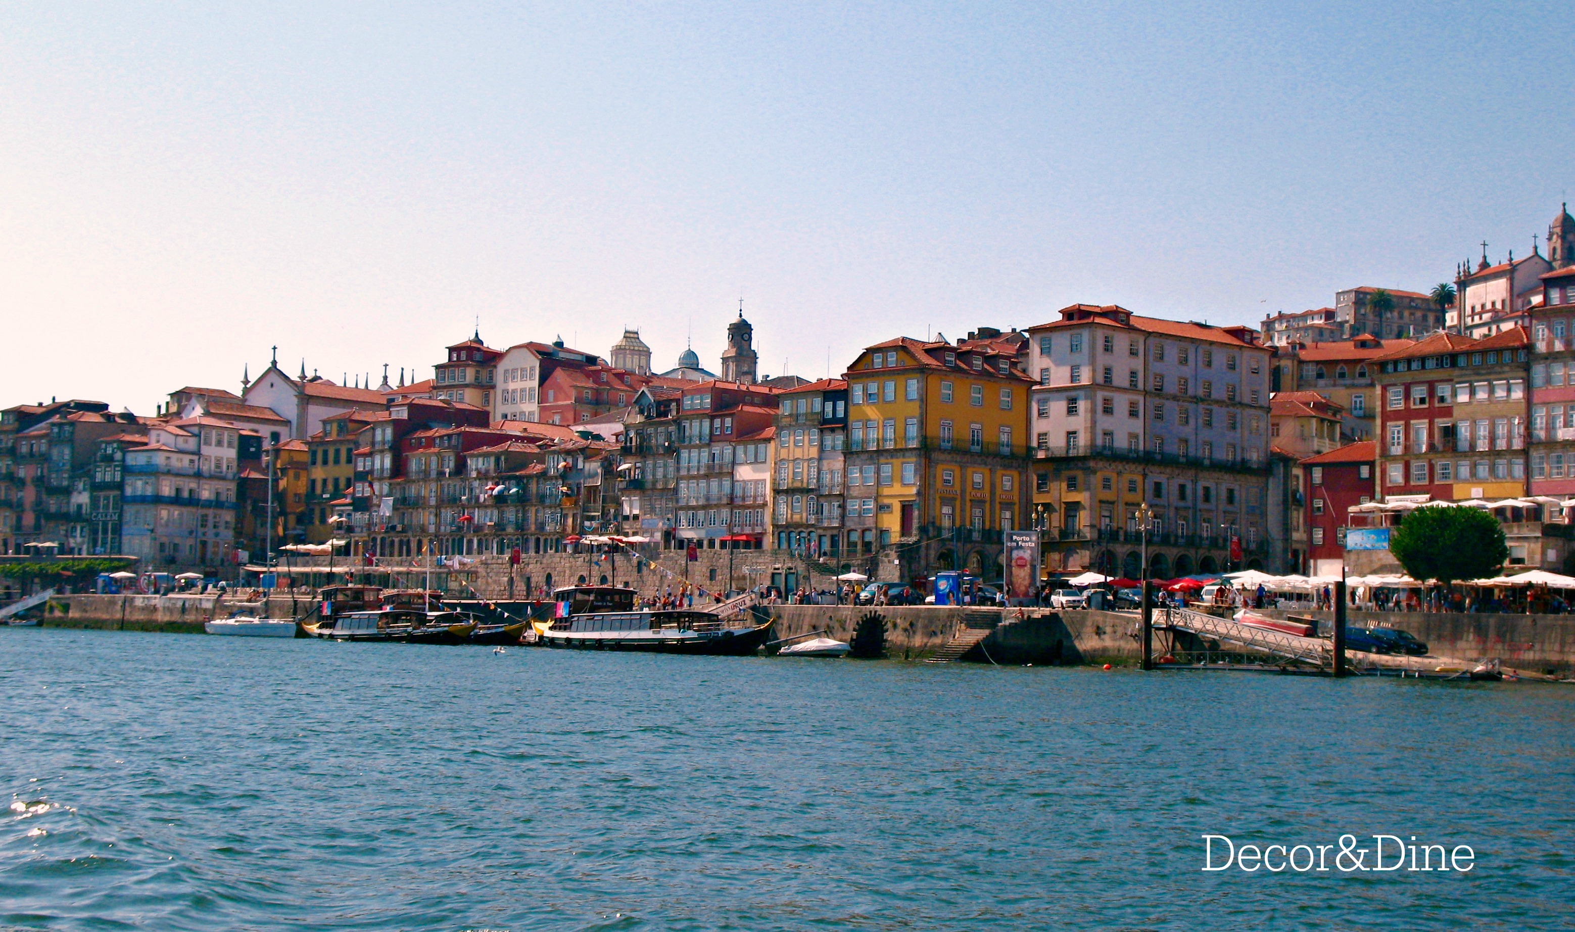
[[1028, 327], [1035, 513], [1047, 568], [1158, 576], [1265, 567], [1269, 348], [1213, 327], [1076, 304]]

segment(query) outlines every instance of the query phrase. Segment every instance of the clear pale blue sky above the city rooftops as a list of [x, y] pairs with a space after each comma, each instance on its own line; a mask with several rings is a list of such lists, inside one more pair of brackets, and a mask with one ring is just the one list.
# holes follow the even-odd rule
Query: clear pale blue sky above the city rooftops
[[1257, 324], [1523, 255], [1547, 5], [8, 5], [0, 405], [638, 326], [762, 370], [1076, 301]]

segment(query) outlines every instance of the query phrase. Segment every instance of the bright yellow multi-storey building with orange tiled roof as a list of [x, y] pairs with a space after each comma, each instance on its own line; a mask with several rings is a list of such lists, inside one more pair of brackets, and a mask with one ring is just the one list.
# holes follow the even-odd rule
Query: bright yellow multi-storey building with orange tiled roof
[[[847, 373], [847, 556], [890, 553], [899, 576], [965, 568], [1000, 578], [1002, 532], [1028, 520], [1024, 337], [901, 337]], [[893, 564], [876, 564], [891, 578]], [[874, 575], [874, 573], [871, 573]]]

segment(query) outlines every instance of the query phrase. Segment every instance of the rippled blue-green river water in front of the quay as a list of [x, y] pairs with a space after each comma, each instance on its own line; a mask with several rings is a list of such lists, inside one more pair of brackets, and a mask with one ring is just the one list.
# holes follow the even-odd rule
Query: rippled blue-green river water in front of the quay
[[[1567, 927], [1575, 690], [0, 628], [3, 929]], [[1203, 874], [1200, 834], [1469, 844]]]

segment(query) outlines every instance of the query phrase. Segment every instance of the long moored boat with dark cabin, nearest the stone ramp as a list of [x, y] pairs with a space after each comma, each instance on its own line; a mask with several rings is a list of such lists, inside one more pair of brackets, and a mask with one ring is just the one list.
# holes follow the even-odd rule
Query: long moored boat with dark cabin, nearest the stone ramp
[[[770, 630], [770, 622], [756, 625], [747, 616], [728, 619], [718, 611], [635, 609], [635, 590], [621, 586], [565, 586], [554, 595], [559, 617], [532, 622], [547, 647], [748, 655]], [[728, 606], [748, 608], [737, 601]]]

